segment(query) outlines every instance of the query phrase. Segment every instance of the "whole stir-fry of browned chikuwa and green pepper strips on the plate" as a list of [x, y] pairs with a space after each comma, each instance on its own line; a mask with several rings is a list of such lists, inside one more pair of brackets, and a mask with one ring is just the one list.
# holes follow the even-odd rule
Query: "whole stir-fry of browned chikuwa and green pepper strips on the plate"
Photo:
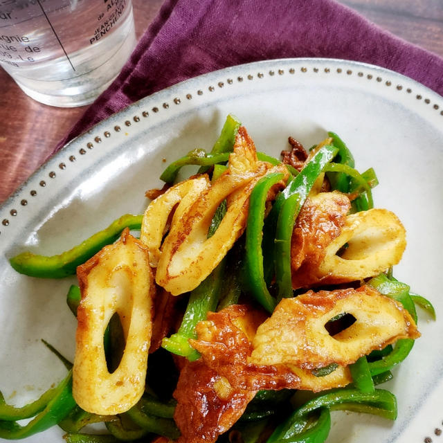
[[[183, 165], [200, 168], [177, 180]], [[289, 137], [274, 159], [228, 116], [210, 152], [161, 179], [143, 215], [10, 260], [76, 273], [78, 328], [73, 363], [46, 343], [64, 380], [21, 408], [0, 396], [0, 437], [58, 425], [71, 443], [320, 443], [331, 410], [395, 419], [395, 395], [376, 386], [420, 336], [415, 304], [434, 313], [392, 275], [406, 232], [374, 208], [374, 170], [354, 169], [334, 133], [309, 151]]]

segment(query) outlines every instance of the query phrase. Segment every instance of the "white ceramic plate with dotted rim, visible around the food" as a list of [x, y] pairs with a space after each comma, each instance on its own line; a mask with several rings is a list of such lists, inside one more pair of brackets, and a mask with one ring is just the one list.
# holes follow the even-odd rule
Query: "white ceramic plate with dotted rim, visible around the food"
[[[0, 389], [24, 404], [64, 376], [45, 338], [73, 359], [75, 320], [65, 296], [73, 278], [19, 275], [8, 257], [53, 254], [78, 244], [124, 213], [142, 213], [145, 190], [162, 186], [165, 165], [210, 149], [228, 113], [257, 149], [278, 156], [287, 137], [306, 147], [333, 130], [359, 170], [373, 166], [376, 206], [393, 210], [408, 232], [399, 280], [434, 303], [437, 322], [419, 318], [419, 338], [387, 388], [396, 422], [333, 413], [327, 442], [423, 442], [443, 420], [443, 99], [402, 75], [343, 60], [273, 60], [188, 80], [137, 102], [69, 143], [0, 209]], [[61, 442], [53, 428], [30, 442]], [[440, 439], [442, 439], [440, 437]]]

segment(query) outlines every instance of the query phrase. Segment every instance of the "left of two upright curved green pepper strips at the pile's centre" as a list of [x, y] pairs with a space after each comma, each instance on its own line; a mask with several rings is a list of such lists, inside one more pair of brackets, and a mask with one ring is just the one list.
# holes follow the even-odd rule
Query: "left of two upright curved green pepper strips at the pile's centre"
[[251, 192], [251, 197], [249, 197], [249, 211], [246, 221], [245, 280], [248, 291], [250, 291], [255, 300], [270, 313], [273, 312], [276, 303], [264, 281], [262, 230], [266, 197], [271, 187], [282, 178], [283, 174], [274, 172], [257, 181], [257, 184]]

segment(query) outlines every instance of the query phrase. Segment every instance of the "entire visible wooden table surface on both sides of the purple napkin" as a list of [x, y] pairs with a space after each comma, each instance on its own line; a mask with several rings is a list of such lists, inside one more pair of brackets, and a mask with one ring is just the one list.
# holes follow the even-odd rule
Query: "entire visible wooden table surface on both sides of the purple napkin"
[[[137, 37], [163, 0], [133, 0]], [[341, 0], [408, 42], [443, 57], [442, 0]], [[443, 75], [443, 73], [442, 73]], [[46, 160], [86, 107], [55, 108], [26, 96], [0, 68], [0, 203]]]

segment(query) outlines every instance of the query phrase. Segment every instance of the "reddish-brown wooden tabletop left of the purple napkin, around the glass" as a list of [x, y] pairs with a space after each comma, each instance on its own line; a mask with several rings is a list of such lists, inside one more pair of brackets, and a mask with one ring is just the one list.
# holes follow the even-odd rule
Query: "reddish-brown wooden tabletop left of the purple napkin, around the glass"
[[[163, 0], [133, 0], [138, 38]], [[87, 107], [56, 108], [26, 96], [0, 68], [0, 202], [48, 159]]]

